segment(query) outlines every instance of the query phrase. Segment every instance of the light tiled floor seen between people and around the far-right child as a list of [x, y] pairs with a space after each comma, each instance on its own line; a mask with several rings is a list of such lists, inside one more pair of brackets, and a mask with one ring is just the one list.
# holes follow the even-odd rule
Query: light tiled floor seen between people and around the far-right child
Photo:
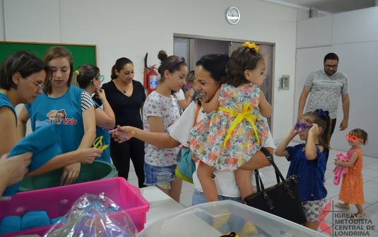
[[[293, 142], [293, 144], [290, 145], [293, 146], [295, 144], [297, 143]], [[365, 204], [362, 204], [362, 207], [367, 216], [362, 221], [352, 224], [349, 222], [348, 217], [357, 212], [354, 205], [350, 205], [350, 212], [341, 212], [340, 209], [333, 207], [337, 202], [341, 202], [338, 200], [341, 184], [333, 184], [334, 175], [332, 172], [333, 168], [335, 168], [333, 160], [337, 152], [346, 153], [346, 151], [331, 150], [326, 168], [325, 185], [328, 191], [327, 197], [331, 200], [331, 212], [326, 216], [325, 221], [326, 224], [331, 227], [331, 231], [321, 231], [320, 228], [318, 231], [324, 233], [326, 236], [330, 236], [329, 233], [326, 233], [327, 231], [333, 233], [333, 236], [378, 236], [378, 159], [364, 156], [362, 175], [364, 179]], [[290, 163], [288, 163], [284, 157], [275, 157], [275, 161], [285, 177], [288, 173]], [[261, 168], [260, 171], [264, 173], [266, 177], [266, 187], [276, 184], [276, 176], [274, 175], [272, 166]], [[129, 183], [138, 186], [138, 180], [136, 179], [132, 165], [130, 167]], [[191, 207], [191, 195], [193, 194], [193, 190], [194, 186], [191, 183], [183, 182], [180, 203], [184, 207]]]

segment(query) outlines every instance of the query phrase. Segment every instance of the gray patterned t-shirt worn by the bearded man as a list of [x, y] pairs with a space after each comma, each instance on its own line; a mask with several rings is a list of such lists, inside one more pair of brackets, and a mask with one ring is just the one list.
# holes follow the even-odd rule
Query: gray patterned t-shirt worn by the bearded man
[[331, 119], [336, 119], [341, 94], [348, 94], [348, 78], [341, 71], [328, 76], [324, 69], [312, 71], [305, 86], [311, 88], [306, 112], [317, 109], [328, 110]]

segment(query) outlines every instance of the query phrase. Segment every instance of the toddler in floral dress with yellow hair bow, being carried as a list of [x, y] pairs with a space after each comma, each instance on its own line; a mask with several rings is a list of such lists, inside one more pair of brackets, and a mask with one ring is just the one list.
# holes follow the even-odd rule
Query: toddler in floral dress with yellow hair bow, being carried
[[264, 145], [268, 137], [264, 117], [272, 112], [264, 93], [260, 93], [266, 64], [258, 46], [246, 42], [238, 47], [225, 70], [223, 85], [210, 102], [203, 103], [209, 114], [190, 134], [190, 149], [194, 160], [200, 161], [197, 175], [208, 202], [218, 201], [212, 178], [215, 169], [235, 170], [242, 200], [254, 193], [249, 158]]

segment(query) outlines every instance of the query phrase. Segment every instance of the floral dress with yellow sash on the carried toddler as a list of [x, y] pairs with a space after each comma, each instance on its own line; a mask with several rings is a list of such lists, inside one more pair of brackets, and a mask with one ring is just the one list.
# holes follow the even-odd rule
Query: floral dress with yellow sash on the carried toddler
[[259, 118], [260, 88], [223, 84], [219, 108], [191, 129], [194, 156], [217, 170], [236, 170], [261, 149], [268, 124]]

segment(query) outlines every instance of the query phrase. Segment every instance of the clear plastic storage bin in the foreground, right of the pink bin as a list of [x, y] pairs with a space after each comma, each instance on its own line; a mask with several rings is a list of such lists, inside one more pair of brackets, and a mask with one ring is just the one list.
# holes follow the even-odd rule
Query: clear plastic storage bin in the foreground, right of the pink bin
[[240, 237], [324, 237], [323, 234], [278, 216], [234, 201], [220, 201], [189, 207], [153, 222], [140, 237], [219, 237], [235, 232]]

